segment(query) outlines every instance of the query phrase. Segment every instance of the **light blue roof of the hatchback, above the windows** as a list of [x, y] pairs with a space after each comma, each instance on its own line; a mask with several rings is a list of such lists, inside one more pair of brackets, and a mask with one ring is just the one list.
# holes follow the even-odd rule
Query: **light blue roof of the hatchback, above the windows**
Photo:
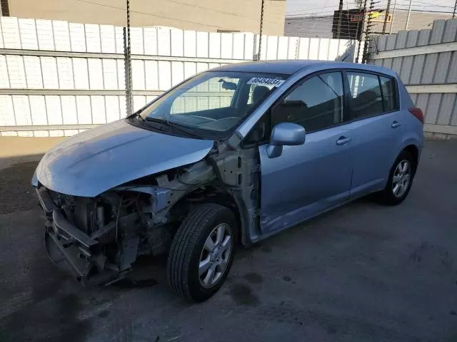
[[390, 69], [382, 66], [373, 66], [371, 64], [347, 63], [339, 61], [312, 61], [312, 60], [283, 60], [283, 61], [252, 61], [244, 63], [230, 63], [224, 66], [211, 69], [211, 71], [239, 71], [251, 73], [282, 73], [292, 75], [297, 71], [301, 71], [310, 66], [321, 67], [321, 70], [326, 68], [355, 68], [366, 71], [374, 71], [377, 73], [385, 73], [395, 76], [395, 73]]

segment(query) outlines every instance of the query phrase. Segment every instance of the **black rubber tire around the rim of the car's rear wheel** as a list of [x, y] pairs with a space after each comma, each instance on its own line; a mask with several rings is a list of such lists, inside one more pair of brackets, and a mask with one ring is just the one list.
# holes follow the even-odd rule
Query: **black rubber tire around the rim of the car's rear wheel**
[[[410, 181], [409, 181], [408, 187], [406, 188], [406, 191], [403, 193], [403, 195], [396, 196], [393, 194], [393, 175], [396, 172], [396, 168], [398, 167], [398, 164], [400, 164], [400, 162], [402, 162], [403, 160], [408, 161], [409, 165], [411, 165]], [[395, 162], [393, 162], [391, 171], [388, 174], [388, 180], [387, 180], [386, 187], [384, 188], [383, 191], [381, 191], [379, 193], [379, 199], [381, 200], [381, 202], [383, 204], [398, 205], [406, 199], [409, 191], [411, 190], [411, 185], [413, 185], [414, 175], [416, 175], [416, 168], [417, 168], [417, 160], [415, 160], [413, 158], [411, 153], [409, 153], [406, 150], [401, 151], [401, 153], [398, 155]]]

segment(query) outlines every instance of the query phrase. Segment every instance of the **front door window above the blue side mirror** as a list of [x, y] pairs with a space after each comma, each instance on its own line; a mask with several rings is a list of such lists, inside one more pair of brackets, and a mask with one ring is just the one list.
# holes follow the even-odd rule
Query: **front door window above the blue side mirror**
[[343, 78], [340, 72], [309, 78], [292, 90], [271, 112], [271, 127], [289, 122], [302, 125], [307, 132], [341, 123]]

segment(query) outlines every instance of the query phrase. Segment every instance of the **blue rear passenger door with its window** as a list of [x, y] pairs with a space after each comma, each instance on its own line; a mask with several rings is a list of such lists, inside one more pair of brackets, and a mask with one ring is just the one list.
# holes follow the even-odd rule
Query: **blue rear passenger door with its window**
[[353, 176], [351, 197], [381, 190], [402, 145], [402, 113], [396, 80], [362, 71], [346, 71], [348, 122], [351, 122]]

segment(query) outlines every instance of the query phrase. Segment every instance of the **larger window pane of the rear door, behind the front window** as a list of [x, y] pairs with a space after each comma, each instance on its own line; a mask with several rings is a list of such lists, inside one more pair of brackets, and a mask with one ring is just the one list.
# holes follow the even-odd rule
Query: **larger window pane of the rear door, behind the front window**
[[349, 120], [383, 113], [383, 99], [378, 76], [370, 73], [346, 73], [351, 90]]

